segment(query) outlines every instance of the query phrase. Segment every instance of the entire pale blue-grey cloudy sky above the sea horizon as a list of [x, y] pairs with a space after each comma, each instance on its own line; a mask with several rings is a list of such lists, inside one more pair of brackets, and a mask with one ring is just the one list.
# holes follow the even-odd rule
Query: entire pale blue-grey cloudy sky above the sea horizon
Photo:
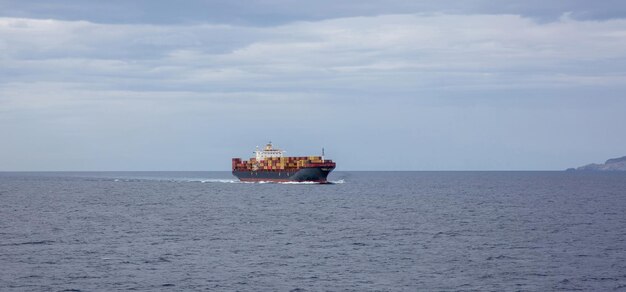
[[626, 155], [623, 1], [0, 0], [0, 171]]

